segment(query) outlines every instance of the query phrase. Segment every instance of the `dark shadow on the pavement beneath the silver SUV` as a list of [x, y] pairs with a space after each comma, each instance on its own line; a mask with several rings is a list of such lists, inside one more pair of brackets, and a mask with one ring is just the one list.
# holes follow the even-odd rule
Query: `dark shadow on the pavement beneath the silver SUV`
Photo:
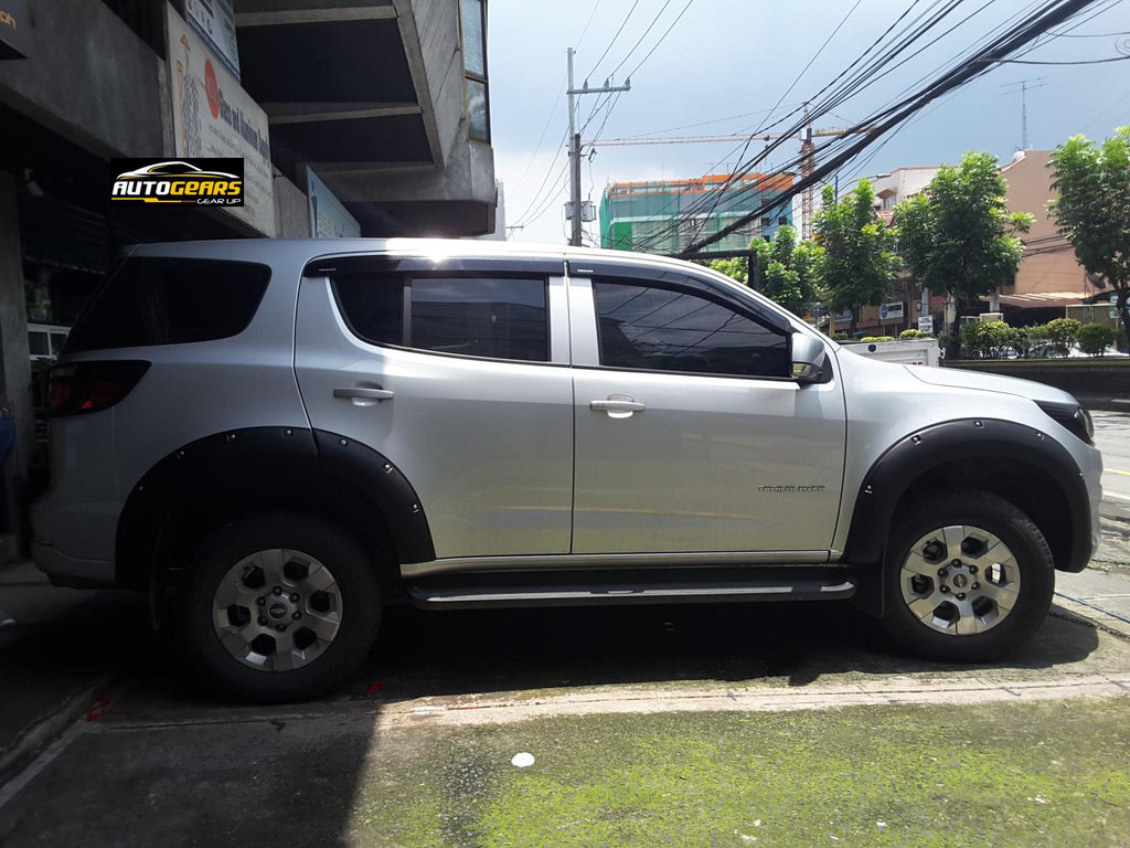
[[846, 604], [603, 607], [386, 614], [350, 687], [385, 699], [670, 681], [739, 683], [824, 675], [1038, 669], [1085, 659], [1093, 628], [1050, 616], [1036, 637], [984, 666], [902, 656], [878, 622]]

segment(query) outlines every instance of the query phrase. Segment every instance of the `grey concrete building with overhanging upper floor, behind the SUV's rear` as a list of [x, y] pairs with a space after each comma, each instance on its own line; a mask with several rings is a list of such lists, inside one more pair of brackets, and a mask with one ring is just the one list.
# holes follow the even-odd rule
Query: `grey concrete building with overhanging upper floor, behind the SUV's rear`
[[[0, 12], [0, 408], [17, 423], [17, 499], [43, 464], [31, 358], [51, 353], [29, 349], [28, 323], [50, 345], [124, 244], [495, 228], [486, 0]], [[243, 159], [242, 208], [110, 202], [115, 157], [215, 156]]]

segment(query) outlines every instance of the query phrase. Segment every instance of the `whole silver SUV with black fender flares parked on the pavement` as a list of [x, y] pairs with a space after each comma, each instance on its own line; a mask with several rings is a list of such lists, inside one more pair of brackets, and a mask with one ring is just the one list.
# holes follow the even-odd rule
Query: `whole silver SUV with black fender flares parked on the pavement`
[[214, 685], [350, 673], [384, 604], [853, 598], [982, 660], [1079, 571], [1070, 395], [873, 362], [729, 278], [464, 241], [139, 246], [52, 373], [59, 585], [149, 592]]

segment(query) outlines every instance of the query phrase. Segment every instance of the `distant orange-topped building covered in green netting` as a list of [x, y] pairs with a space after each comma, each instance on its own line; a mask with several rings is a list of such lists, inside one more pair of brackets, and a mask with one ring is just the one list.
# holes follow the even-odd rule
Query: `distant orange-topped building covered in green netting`
[[[791, 189], [792, 182], [791, 174], [750, 173], [737, 181], [728, 174], [711, 174], [693, 180], [612, 183], [600, 198], [600, 245], [678, 253]], [[792, 205], [785, 200], [779, 209], [749, 222], [710, 249], [745, 250], [754, 239], [772, 239], [777, 226], [791, 223]]]

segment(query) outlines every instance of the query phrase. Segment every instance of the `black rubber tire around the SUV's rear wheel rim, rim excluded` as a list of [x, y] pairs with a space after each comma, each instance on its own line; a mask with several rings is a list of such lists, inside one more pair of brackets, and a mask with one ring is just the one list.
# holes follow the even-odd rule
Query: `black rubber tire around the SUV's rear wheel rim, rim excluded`
[[[258, 597], [244, 604], [241, 595], [238, 605], [224, 607], [217, 596], [225, 577], [234, 566], [244, 562], [257, 552], [285, 551], [294, 556], [286, 562], [285, 570], [298, 569], [299, 582], [293, 586], [285, 580], [276, 581], [286, 587], [282, 597], [272, 597], [272, 587], [267, 585], [247, 588], [240, 583], [240, 590], [262, 596], [266, 602], [255, 611]], [[286, 560], [279, 556], [279, 560]], [[313, 590], [313, 585], [302, 585], [305, 579], [302, 572], [303, 563], [310, 570], [310, 562], [324, 566], [333, 578], [329, 592]], [[254, 570], [254, 565], [251, 566]], [[247, 572], [243, 566], [238, 573]], [[263, 570], [260, 569], [260, 574]], [[252, 574], [258, 583], [258, 576]], [[250, 579], [250, 578], [249, 578]], [[287, 578], [289, 580], [289, 578]], [[232, 581], [228, 581], [229, 585]], [[310, 589], [299, 595], [298, 589]], [[307, 597], [308, 596], [308, 597]], [[314, 597], [318, 596], [318, 597]], [[292, 603], [292, 598], [296, 598]], [[313, 598], [313, 599], [311, 599]], [[276, 602], [280, 602], [276, 604]], [[324, 609], [314, 609], [321, 605]], [[284, 608], [285, 607], [285, 608]], [[251, 611], [250, 621], [244, 618]], [[278, 617], [268, 618], [266, 609], [273, 609]], [[278, 612], [284, 609], [284, 612]], [[303, 609], [306, 618], [303, 620]], [[327, 612], [328, 611], [328, 612]], [[279, 644], [288, 639], [286, 644], [297, 650], [296, 646], [303, 639], [314, 635], [312, 630], [303, 630], [308, 623], [313, 625], [315, 613], [324, 618], [334, 618], [336, 632], [328, 639], [303, 646], [305, 650], [292, 650], [273, 654], [297, 667], [286, 670], [271, 669], [273, 656], [268, 648], [264, 652], [268, 659], [263, 666], [254, 667], [245, 659], [225, 647], [215, 621], [223, 616], [227, 630], [249, 628], [250, 635], [254, 625], [255, 632], [262, 635], [267, 630], [288, 629], [278, 633]], [[237, 614], [237, 615], [236, 615]], [[292, 617], [297, 621], [292, 621]], [[277, 623], [276, 623], [277, 622]], [[237, 700], [260, 703], [277, 703], [312, 698], [327, 689], [342, 683], [365, 659], [381, 622], [380, 583], [373, 568], [372, 559], [366, 556], [360, 546], [341, 528], [319, 518], [298, 514], [255, 516], [229, 523], [208, 538], [199, 548], [190, 565], [188, 582], [181, 603], [181, 642], [189, 661], [205, 680], [211, 691]], [[287, 635], [289, 633], [289, 635]], [[271, 633], [273, 638], [276, 634]], [[247, 637], [242, 637], [246, 641]], [[259, 639], [260, 637], [257, 637]], [[258, 642], [255, 650], [262, 650], [268, 642]], [[251, 650], [251, 649], [249, 649]], [[312, 658], [306, 658], [307, 655]], [[252, 658], [261, 655], [253, 654]], [[295, 657], [298, 659], [296, 660]], [[301, 664], [301, 665], [299, 665]]]

